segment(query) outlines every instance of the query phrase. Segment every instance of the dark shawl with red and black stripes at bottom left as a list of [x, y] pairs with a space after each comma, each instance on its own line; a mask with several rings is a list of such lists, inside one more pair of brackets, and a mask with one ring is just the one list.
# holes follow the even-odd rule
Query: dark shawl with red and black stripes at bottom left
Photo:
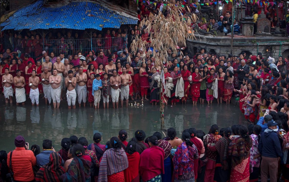
[[65, 170], [61, 166], [62, 158], [58, 153], [53, 152], [49, 156], [49, 163], [42, 166], [36, 174], [36, 181], [56, 182], [61, 181], [61, 175]]

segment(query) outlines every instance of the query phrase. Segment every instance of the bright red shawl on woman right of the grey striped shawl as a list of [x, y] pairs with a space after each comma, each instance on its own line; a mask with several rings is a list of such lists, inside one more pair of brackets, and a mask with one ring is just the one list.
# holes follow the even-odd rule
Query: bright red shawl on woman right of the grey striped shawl
[[133, 154], [126, 153], [128, 160], [128, 168], [124, 172], [125, 182], [131, 182], [138, 176], [138, 166], [140, 164], [140, 154], [134, 152]]

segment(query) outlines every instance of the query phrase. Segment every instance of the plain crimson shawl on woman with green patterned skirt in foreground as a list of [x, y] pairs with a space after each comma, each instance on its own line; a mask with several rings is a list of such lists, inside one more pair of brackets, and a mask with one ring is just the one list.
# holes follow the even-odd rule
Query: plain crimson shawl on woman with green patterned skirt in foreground
[[139, 170], [142, 181], [164, 174], [164, 150], [157, 146], [145, 149], [140, 154]]

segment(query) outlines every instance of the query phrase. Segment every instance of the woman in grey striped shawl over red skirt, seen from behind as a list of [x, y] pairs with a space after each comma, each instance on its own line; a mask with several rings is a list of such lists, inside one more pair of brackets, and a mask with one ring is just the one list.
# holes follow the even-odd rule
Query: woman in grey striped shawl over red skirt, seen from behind
[[117, 137], [110, 139], [110, 145], [111, 148], [106, 150], [101, 158], [98, 181], [123, 182], [124, 170], [128, 168], [127, 155]]

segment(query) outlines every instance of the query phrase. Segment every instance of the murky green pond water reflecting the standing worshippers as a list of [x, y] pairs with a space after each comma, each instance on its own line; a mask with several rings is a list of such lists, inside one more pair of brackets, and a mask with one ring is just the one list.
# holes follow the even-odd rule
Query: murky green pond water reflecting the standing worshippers
[[[207, 133], [212, 124], [220, 128], [233, 124], [247, 124], [239, 107], [232, 104], [217, 104], [193, 106], [178, 104], [164, 109], [164, 133], [170, 127], [176, 128], [178, 136], [184, 129], [191, 127]], [[61, 149], [62, 138], [76, 135], [84, 136], [92, 143], [93, 134], [102, 134], [103, 141], [125, 129], [128, 139], [134, 137], [138, 129], [144, 130], [147, 136], [161, 130], [159, 105], [145, 103], [143, 107], [129, 106], [118, 109], [86, 108], [67, 109], [61, 105], [59, 109], [51, 106], [39, 107], [26, 104], [24, 107], [14, 105], [0, 106], [0, 150], [10, 151], [15, 148], [14, 139], [17, 135], [24, 136], [29, 145], [42, 147], [44, 139], [50, 139], [55, 150]], [[161, 132], [162, 133], [162, 132]]]

